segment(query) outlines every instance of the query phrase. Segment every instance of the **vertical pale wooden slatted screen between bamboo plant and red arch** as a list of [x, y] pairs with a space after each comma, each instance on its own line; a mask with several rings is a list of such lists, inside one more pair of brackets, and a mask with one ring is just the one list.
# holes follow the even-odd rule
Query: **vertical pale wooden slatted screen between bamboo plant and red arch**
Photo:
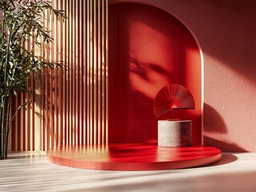
[[[10, 133], [10, 150], [47, 150], [59, 145], [108, 143], [108, 0], [55, 0], [67, 21], [47, 14], [55, 39], [43, 46], [43, 58], [63, 61], [67, 70], [47, 70], [30, 79], [35, 95], [20, 94]], [[30, 43], [26, 46], [33, 46]]]

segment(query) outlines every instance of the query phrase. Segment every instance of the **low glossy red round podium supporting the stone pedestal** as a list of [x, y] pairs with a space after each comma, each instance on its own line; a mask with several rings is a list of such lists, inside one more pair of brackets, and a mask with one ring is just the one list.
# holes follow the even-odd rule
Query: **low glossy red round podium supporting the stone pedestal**
[[70, 145], [47, 150], [50, 162], [90, 170], [172, 170], [221, 160], [210, 146], [165, 147], [151, 143]]

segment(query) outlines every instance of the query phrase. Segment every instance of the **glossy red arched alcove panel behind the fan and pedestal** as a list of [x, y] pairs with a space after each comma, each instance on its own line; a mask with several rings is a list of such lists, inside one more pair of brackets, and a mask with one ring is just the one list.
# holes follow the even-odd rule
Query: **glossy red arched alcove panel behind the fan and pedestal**
[[201, 54], [189, 30], [165, 10], [117, 3], [109, 6], [108, 34], [108, 142], [157, 142], [153, 100], [177, 83], [196, 109], [177, 110], [175, 118], [192, 119], [193, 145], [201, 144]]

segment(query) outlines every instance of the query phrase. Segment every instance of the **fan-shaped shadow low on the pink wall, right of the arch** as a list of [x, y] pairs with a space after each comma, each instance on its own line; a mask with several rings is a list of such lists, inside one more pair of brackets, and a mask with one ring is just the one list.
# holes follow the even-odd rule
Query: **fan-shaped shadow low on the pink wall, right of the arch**
[[221, 135], [228, 134], [228, 130], [225, 122], [221, 118], [221, 115], [217, 112], [217, 110], [213, 109], [213, 107], [209, 106], [207, 103], [204, 103], [204, 116], [205, 146], [216, 146], [222, 151], [247, 151], [234, 142], [224, 142], [218, 140], [217, 138], [211, 137], [211, 134], [213, 134], [215, 137], [217, 134], [219, 134], [219, 138], [221, 138]]

